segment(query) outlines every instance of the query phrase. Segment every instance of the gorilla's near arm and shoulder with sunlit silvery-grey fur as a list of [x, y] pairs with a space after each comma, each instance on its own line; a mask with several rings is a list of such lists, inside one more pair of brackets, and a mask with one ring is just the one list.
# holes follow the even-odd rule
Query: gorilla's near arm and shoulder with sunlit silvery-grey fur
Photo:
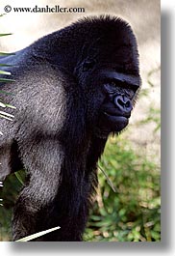
[[[15, 98], [4, 97], [16, 107], [14, 122], [1, 122], [5, 130], [0, 144], [3, 177], [17, 170], [17, 162], [27, 171], [26, 184], [14, 207], [13, 239], [60, 225], [59, 232], [44, 236], [42, 241], [81, 241], [91, 189], [88, 170], [84, 171], [89, 146], [87, 141], [82, 143], [86, 131], [84, 104], [79, 103], [81, 89], [72, 77], [50, 64], [42, 63], [29, 71], [25, 67], [24, 71], [13, 69]], [[10, 91], [6, 84], [3, 89]], [[10, 142], [6, 152], [5, 137]], [[74, 141], [75, 154], [69, 140]], [[93, 167], [95, 161], [91, 161]]]

